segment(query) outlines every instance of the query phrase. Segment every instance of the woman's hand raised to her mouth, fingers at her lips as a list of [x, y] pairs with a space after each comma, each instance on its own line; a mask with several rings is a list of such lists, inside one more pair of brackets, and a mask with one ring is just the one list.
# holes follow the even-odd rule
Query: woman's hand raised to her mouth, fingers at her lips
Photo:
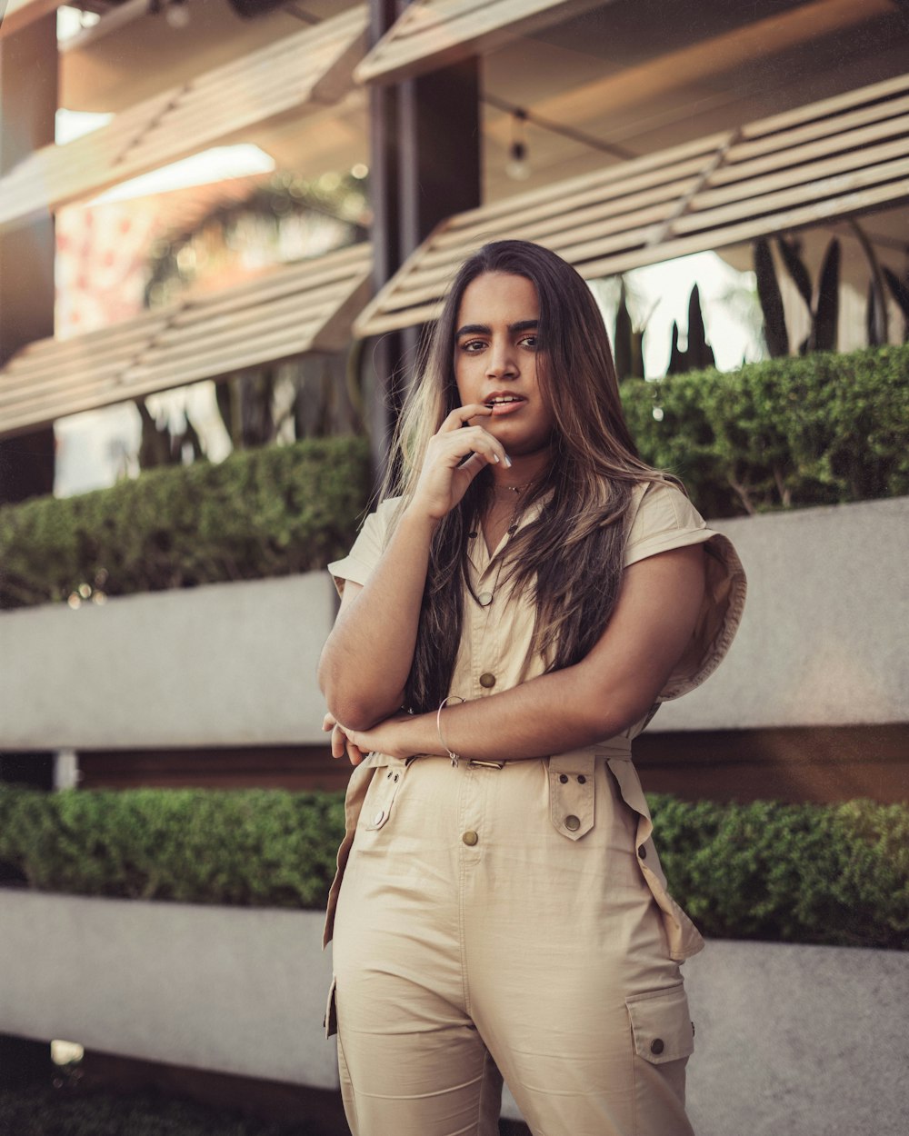
[[411, 509], [433, 520], [441, 520], [458, 504], [481, 469], [499, 462], [511, 465], [504, 446], [489, 431], [478, 425], [465, 425], [472, 418], [489, 418], [491, 415], [492, 408], [482, 402], [468, 403], [451, 411], [439, 432], [430, 438]]

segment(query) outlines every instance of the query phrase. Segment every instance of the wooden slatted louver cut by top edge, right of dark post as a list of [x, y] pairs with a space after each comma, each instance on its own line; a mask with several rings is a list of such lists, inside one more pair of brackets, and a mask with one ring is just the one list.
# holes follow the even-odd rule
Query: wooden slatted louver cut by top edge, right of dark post
[[[492, 51], [602, 5], [604, 0], [414, 0], [355, 72], [390, 83]], [[609, 2], [609, 0], [606, 0]]]

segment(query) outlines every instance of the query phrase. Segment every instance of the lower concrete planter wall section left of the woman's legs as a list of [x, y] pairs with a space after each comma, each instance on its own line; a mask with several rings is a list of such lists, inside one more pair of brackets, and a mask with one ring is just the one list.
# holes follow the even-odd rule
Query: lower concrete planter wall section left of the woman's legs
[[0, 889], [0, 1033], [336, 1088], [317, 911]]

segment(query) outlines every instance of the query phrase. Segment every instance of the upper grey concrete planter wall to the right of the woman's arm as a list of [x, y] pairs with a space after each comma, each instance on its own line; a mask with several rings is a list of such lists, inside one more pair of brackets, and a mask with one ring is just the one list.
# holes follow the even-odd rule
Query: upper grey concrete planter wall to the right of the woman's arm
[[909, 498], [710, 523], [748, 602], [729, 653], [649, 732], [909, 721]]

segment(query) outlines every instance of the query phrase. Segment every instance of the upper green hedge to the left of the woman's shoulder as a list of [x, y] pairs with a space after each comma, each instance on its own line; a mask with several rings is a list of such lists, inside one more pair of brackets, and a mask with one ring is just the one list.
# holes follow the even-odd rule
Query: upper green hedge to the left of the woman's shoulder
[[256, 579], [324, 568], [347, 552], [369, 493], [361, 438], [152, 469], [76, 498], [0, 509], [0, 608]]

